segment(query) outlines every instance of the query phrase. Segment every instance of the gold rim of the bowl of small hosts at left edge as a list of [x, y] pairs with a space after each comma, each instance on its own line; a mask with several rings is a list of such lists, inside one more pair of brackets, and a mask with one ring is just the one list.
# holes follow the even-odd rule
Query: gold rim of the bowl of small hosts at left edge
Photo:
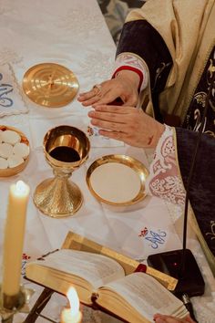
[[[20, 131], [14, 127], [8, 127], [8, 126], [4, 126], [4, 125], [0, 126], [0, 130], [2, 130], [2, 131], [13, 130], [13, 131], [17, 132], [21, 137], [20, 142], [26, 143], [26, 145], [29, 147], [29, 141], [26, 138], [26, 135], [22, 131]], [[25, 161], [23, 163], [21, 163], [20, 165], [15, 166], [13, 168], [6, 168], [5, 170], [0, 170], [0, 177], [14, 176], [17, 173], [22, 172], [26, 168], [26, 164], [29, 161], [29, 155], [30, 155], [30, 153], [26, 157]]]

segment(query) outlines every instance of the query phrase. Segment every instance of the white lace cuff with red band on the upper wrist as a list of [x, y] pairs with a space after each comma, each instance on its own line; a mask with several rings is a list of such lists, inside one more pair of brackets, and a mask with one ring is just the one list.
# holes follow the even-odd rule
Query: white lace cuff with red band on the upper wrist
[[118, 55], [115, 61], [115, 69], [113, 78], [120, 70], [129, 69], [136, 72], [139, 76], [138, 90], [141, 91], [147, 88], [148, 85], [148, 71], [143, 61], [135, 55], [129, 53], [122, 53]]

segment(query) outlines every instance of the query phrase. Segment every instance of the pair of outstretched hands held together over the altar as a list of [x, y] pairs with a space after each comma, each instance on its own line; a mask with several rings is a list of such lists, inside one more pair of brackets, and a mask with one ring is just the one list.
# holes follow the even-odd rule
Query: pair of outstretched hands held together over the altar
[[[122, 73], [123, 72], [123, 73]], [[107, 80], [86, 93], [79, 95], [83, 106], [94, 108], [88, 112], [91, 124], [99, 128], [98, 133], [108, 138], [136, 147], [156, 147], [164, 125], [149, 117], [138, 103], [138, 75], [122, 71], [117, 78]], [[111, 105], [115, 99], [123, 105]]]

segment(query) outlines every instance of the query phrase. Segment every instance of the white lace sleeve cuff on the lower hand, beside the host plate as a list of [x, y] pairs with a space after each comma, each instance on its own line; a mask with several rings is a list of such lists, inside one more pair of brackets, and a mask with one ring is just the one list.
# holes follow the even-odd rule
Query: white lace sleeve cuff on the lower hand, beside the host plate
[[150, 164], [147, 192], [171, 203], [184, 204], [185, 190], [179, 175], [173, 130], [165, 125]]

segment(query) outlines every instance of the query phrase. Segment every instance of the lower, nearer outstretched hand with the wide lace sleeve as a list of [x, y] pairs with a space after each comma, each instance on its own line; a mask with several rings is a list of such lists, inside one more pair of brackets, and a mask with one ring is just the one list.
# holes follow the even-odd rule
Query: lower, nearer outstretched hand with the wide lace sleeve
[[96, 105], [88, 112], [91, 124], [102, 136], [136, 147], [156, 147], [164, 125], [134, 107]]

